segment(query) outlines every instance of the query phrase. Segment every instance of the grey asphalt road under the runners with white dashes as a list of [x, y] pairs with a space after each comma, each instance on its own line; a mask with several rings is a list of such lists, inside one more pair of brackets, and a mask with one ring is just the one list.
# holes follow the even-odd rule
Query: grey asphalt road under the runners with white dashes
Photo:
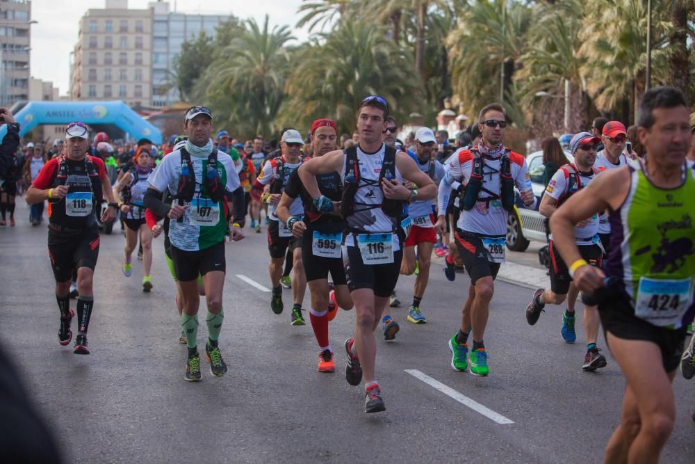
[[[140, 262], [133, 261], [131, 278], [121, 273], [124, 239], [117, 230], [101, 237], [92, 354], [73, 355], [57, 340], [46, 229], [28, 225], [28, 209], [19, 203], [17, 226], [0, 230], [0, 341], [65, 462], [598, 463], [618, 423], [624, 381], [616, 363], [605, 350], [605, 369], [582, 371], [583, 331], [578, 326], [576, 344], [564, 343], [561, 307], [546, 307], [539, 323], [528, 326], [528, 287], [496, 284], [485, 339], [491, 375], [453, 371], [447, 342], [469, 281], [458, 274], [450, 283], [439, 266], [421, 305], [425, 325], [405, 321], [414, 278], [398, 282], [404, 303], [394, 314], [402, 329], [394, 342], [377, 342], [387, 410], [366, 415], [363, 387], [351, 387], [343, 376], [342, 344], [354, 313], [341, 311], [331, 323], [336, 373], [320, 374], [311, 326], [290, 326], [287, 310], [270, 311], [270, 294], [237, 277], [270, 287], [265, 227], [227, 245], [220, 338], [226, 376], [214, 378], [204, 365], [202, 382], [183, 381], [186, 349], [177, 342], [162, 239], [154, 244], [154, 290], [143, 294]], [[535, 256], [523, 259], [531, 263]], [[284, 300], [291, 305], [290, 290]], [[202, 346], [204, 323], [199, 332]], [[695, 462], [694, 388], [695, 381], [678, 374], [678, 415], [664, 463]], [[468, 400], [486, 415], [466, 406]]]

